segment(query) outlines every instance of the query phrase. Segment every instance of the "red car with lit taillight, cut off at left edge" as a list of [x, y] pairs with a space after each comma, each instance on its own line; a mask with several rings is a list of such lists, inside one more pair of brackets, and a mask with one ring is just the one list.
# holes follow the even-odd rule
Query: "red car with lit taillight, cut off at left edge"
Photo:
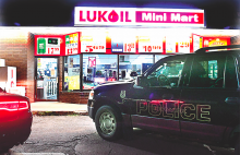
[[31, 134], [33, 115], [25, 96], [0, 91], [0, 153], [23, 144]]

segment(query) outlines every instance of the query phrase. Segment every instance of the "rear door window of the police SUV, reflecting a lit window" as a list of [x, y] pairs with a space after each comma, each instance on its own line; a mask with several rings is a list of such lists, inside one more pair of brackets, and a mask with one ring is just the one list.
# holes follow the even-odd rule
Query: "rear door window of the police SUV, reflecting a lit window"
[[190, 73], [190, 87], [223, 87], [224, 56], [197, 56]]

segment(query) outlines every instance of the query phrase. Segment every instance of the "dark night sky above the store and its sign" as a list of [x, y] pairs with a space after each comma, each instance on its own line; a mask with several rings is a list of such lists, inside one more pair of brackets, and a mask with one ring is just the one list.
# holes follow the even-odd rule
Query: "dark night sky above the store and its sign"
[[240, 0], [0, 0], [0, 26], [74, 26], [74, 7], [203, 9], [207, 28], [240, 28]]

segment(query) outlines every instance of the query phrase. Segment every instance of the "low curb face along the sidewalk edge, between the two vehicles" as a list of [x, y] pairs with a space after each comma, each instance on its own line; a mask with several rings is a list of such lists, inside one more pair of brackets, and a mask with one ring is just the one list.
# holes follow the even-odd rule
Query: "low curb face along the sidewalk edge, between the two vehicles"
[[33, 116], [88, 116], [87, 111], [32, 111]]

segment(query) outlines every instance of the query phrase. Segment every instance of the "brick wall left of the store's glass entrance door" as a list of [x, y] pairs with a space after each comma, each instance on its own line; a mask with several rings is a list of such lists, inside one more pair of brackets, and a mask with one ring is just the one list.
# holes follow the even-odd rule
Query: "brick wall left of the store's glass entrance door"
[[28, 33], [19, 29], [0, 29], [0, 58], [7, 67], [16, 67], [16, 86], [27, 90]]

